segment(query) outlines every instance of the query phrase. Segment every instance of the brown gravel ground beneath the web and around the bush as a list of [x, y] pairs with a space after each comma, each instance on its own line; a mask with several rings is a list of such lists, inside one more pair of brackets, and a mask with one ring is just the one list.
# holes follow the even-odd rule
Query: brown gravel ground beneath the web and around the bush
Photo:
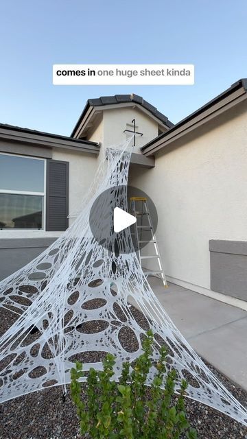
[[[148, 320], [145, 316], [133, 307], [132, 311], [141, 327], [147, 326], [145, 329], [148, 329]], [[0, 310], [0, 335], [5, 332], [11, 322], [14, 323], [14, 320], [16, 316], [13, 316], [10, 311]], [[90, 333], [90, 327], [87, 327], [88, 331]], [[129, 337], [128, 332], [123, 334], [123, 337], [126, 347], [129, 347], [131, 351], [132, 344], [136, 343], [135, 338]], [[87, 353], [84, 359], [92, 360], [95, 355], [98, 353]], [[242, 405], [247, 406], [247, 392], [237, 388], [211, 365], [207, 364], [207, 366]], [[202, 439], [247, 439], [247, 428], [228, 416], [191, 399], [186, 400], [186, 406], [187, 417], [191, 425], [197, 429], [198, 437]], [[76, 438], [86, 439], [86, 436], [83, 438], [80, 436], [69, 386], [65, 400], [62, 397], [62, 388], [58, 386], [0, 404], [0, 439]]]

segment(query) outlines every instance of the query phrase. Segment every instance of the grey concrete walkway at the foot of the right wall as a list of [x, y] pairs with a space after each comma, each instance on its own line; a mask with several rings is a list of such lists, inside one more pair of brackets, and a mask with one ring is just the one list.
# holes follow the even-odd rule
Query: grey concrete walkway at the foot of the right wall
[[247, 312], [157, 278], [158, 300], [189, 344], [231, 381], [247, 390]]

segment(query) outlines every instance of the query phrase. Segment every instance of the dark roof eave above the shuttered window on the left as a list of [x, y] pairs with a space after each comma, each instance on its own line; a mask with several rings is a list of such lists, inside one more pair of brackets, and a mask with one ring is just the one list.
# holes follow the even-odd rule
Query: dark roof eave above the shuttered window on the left
[[25, 144], [44, 145], [47, 147], [62, 147], [71, 150], [79, 150], [83, 152], [99, 153], [99, 143], [85, 141], [82, 139], [73, 139], [60, 134], [51, 134], [38, 130], [30, 130], [30, 128], [21, 128], [12, 126], [8, 123], [0, 123], [0, 140], [24, 142]]

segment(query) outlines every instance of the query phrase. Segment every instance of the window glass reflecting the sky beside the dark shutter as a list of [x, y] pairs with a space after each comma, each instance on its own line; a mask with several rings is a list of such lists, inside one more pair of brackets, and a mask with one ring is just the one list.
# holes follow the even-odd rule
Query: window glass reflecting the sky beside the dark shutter
[[0, 154], [0, 228], [45, 228], [45, 160]]

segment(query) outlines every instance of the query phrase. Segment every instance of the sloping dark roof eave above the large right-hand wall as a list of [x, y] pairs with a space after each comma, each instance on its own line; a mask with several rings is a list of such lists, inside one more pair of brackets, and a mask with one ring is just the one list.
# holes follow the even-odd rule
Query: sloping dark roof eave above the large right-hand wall
[[[146, 143], [141, 147], [143, 154], [154, 154], [156, 150], [160, 150], [161, 147], [165, 147], [168, 143], [172, 143], [172, 141], [176, 140], [179, 132], [179, 137], [187, 134], [188, 130], [197, 128], [202, 123], [202, 119], [204, 121], [212, 119], [216, 115], [220, 114], [222, 110], [227, 110], [231, 108], [231, 106], [241, 102], [243, 97], [246, 98], [247, 92], [247, 79], [243, 78], [235, 82], [231, 85], [231, 87], [227, 88], [223, 93], [217, 95], [211, 101], [204, 104], [204, 106], [198, 108], [198, 110], [191, 113], [191, 115], [182, 119], [176, 125], [172, 126], [167, 132], [160, 134], [158, 137], [152, 139], [152, 141]], [[168, 141], [169, 139], [169, 141]]]

